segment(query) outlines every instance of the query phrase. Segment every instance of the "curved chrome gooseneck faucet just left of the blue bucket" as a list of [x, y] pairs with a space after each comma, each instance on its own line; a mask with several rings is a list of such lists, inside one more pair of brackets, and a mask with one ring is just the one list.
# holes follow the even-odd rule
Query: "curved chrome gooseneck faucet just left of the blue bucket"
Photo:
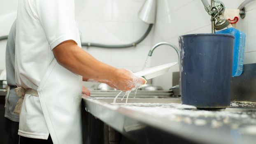
[[[159, 43], [155, 44], [155, 45], [151, 48], [151, 50], [150, 50], [149, 53], [148, 53], [148, 56], [152, 56], [153, 51], [154, 51], [158, 46], [162, 46], [162, 45], [170, 46], [171, 48], [175, 49], [175, 51], [177, 52], [178, 58], [179, 58], [179, 74], [181, 74], [180, 52], [179, 52], [179, 49], [177, 48], [177, 46], [175, 46], [174, 44], [171, 44], [171, 43], [168, 43], [168, 42], [159, 42]], [[180, 82], [179, 82], [179, 84], [180, 84]], [[179, 85], [173, 86], [172, 88], [170, 88], [170, 90], [175, 89], [175, 88], [179, 88]], [[179, 94], [180, 94], [180, 90], [179, 90]]]

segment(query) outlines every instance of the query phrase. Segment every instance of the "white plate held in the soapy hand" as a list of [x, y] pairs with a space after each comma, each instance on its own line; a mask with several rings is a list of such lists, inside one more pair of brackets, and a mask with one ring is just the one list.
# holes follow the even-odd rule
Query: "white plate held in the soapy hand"
[[177, 63], [167, 63], [164, 65], [158, 65], [156, 67], [151, 67], [146, 70], [142, 70], [140, 72], [135, 72], [134, 74], [140, 77], [145, 77], [145, 79], [152, 79], [154, 77], [158, 77], [162, 74], [168, 72], [171, 66], [176, 65]]

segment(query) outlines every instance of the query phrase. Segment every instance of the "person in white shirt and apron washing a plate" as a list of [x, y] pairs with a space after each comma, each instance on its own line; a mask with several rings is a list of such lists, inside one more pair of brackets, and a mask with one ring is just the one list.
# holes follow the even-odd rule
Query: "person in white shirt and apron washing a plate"
[[20, 144], [82, 143], [82, 80], [121, 91], [145, 83], [81, 49], [73, 0], [20, 0], [15, 46]]

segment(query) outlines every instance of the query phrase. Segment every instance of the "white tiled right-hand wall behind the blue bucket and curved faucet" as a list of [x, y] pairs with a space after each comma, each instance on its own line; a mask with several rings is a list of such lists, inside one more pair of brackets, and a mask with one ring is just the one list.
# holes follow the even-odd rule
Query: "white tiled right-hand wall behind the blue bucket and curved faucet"
[[[237, 9], [244, 0], [221, 0], [226, 8]], [[255, 15], [256, 1], [246, 6], [247, 16], [240, 19], [237, 29], [247, 35], [244, 63], [256, 63]], [[153, 33], [152, 45], [166, 41], [178, 46], [178, 36], [191, 33], [211, 33], [210, 16], [205, 12], [201, 0], [158, 0], [157, 20]], [[151, 66], [178, 61], [174, 50], [166, 46], [158, 48], [152, 56]], [[179, 67], [172, 67], [167, 74], [153, 79], [153, 84], [168, 89], [172, 86], [172, 72]]]

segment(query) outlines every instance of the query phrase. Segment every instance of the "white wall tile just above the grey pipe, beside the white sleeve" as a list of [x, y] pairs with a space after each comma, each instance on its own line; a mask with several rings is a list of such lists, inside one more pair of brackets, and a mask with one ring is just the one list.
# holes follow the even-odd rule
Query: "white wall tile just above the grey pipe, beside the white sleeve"
[[133, 41], [133, 23], [84, 20], [77, 20], [77, 23], [83, 42], [127, 44]]

